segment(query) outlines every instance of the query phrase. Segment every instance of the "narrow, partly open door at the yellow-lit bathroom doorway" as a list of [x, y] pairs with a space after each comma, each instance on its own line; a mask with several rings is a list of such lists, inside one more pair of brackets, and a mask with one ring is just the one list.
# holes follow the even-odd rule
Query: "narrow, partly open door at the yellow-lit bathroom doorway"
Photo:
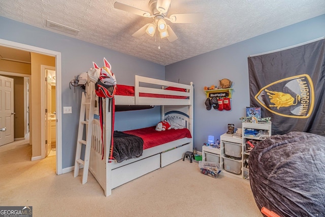
[[[48, 70], [45, 70], [45, 75], [46, 78], [45, 82], [45, 102], [46, 102], [46, 111], [45, 112], [45, 153], [46, 156], [49, 155], [50, 151], [51, 151], [51, 100], [52, 100], [52, 96], [51, 96], [51, 90], [52, 90], [52, 86], [51, 86], [51, 82], [52, 82], [52, 77], [51, 74], [48, 72]], [[46, 142], [47, 141], [47, 142]]]

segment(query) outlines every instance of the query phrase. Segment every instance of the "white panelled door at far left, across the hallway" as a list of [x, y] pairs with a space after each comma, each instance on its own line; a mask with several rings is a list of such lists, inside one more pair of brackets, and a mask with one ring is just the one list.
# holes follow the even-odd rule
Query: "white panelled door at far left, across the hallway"
[[0, 146], [14, 141], [14, 79], [0, 76]]

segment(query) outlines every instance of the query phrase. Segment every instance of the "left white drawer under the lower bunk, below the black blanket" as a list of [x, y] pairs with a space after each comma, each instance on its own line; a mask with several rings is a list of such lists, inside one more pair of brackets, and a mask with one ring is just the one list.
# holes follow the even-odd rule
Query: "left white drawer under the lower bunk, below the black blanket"
[[112, 189], [160, 168], [160, 154], [112, 170]]

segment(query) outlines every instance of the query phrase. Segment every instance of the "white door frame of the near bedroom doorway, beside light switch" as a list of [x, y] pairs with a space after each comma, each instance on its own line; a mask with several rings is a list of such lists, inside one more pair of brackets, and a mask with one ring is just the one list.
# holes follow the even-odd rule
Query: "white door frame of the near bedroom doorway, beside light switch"
[[56, 174], [62, 174], [62, 114], [61, 114], [61, 53], [40, 47], [34, 47], [17, 42], [0, 39], [0, 45], [4, 47], [36, 52], [55, 57], [55, 76], [56, 76]]

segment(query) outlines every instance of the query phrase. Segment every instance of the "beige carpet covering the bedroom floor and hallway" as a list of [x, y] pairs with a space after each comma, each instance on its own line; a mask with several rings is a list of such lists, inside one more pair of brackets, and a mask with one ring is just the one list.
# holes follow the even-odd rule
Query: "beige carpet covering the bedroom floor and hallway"
[[32, 206], [33, 216], [263, 216], [248, 182], [203, 175], [188, 160], [105, 197], [91, 173], [82, 185], [81, 175], [55, 174], [55, 156], [33, 162], [30, 157], [28, 144], [0, 146], [1, 206]]

